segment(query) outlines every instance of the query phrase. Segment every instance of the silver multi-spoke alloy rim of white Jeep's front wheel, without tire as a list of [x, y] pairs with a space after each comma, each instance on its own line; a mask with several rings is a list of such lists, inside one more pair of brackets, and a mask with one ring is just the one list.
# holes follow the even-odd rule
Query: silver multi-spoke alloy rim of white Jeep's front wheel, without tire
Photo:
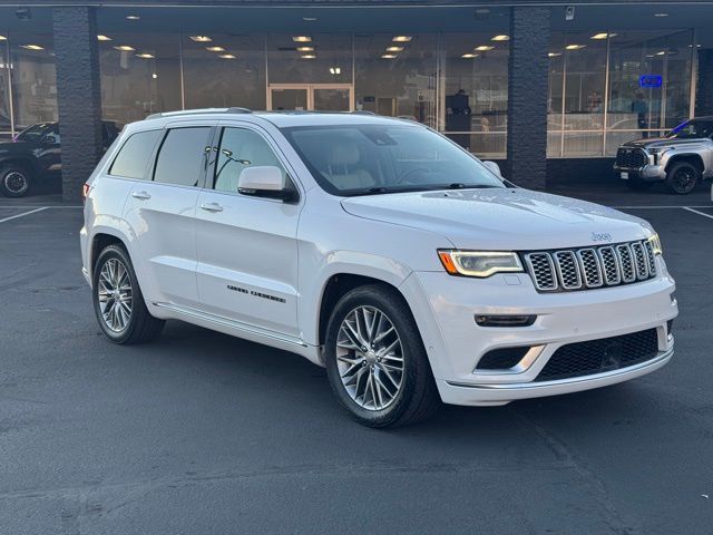
[[403, 383], [403, 349], [389, 317], [374, 307], [352, 310], [339, 330], [336, 366], [360, 407], [382, 410], [393, 403]]

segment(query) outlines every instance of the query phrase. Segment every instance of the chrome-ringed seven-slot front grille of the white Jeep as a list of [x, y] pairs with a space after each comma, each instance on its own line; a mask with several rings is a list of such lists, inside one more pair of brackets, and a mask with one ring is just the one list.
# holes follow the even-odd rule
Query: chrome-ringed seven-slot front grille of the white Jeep
[[569, 292], [616, 286], [656, 276], [648, 240], [596, 247], [525, 253], [538, 292]]

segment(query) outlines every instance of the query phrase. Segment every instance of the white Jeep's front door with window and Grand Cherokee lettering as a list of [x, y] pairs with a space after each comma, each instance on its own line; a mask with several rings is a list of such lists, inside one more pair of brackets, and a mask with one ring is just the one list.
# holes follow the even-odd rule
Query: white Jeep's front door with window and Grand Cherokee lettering
[[198, 293], [203, 310], [299, 337], [296, 230], [301, 201], [242, 195], [243, 169], [277, 166], [276, 146], [252, 125], [221, 127], [214, 162], [198, 197]]

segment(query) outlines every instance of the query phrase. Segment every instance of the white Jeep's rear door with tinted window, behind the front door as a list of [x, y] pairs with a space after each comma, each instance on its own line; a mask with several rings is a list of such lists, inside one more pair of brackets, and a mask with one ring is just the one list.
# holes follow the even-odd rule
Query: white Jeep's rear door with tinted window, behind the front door
[[150, 302], [198, 304], [194, 217], [213, 132], [212, 125], [199, 121], [168, 125], [149, 179], [137, 182], [127, 198], [124, 218], [138, 251], [133, 260]]

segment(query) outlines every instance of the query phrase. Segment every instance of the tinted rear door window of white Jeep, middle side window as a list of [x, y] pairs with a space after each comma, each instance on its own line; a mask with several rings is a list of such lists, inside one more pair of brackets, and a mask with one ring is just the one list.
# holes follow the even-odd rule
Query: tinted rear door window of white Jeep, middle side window
[[154, 181], [197, 186], [205, 165], [209, 133], [207, 126], [168, 130], [158, 152]]

